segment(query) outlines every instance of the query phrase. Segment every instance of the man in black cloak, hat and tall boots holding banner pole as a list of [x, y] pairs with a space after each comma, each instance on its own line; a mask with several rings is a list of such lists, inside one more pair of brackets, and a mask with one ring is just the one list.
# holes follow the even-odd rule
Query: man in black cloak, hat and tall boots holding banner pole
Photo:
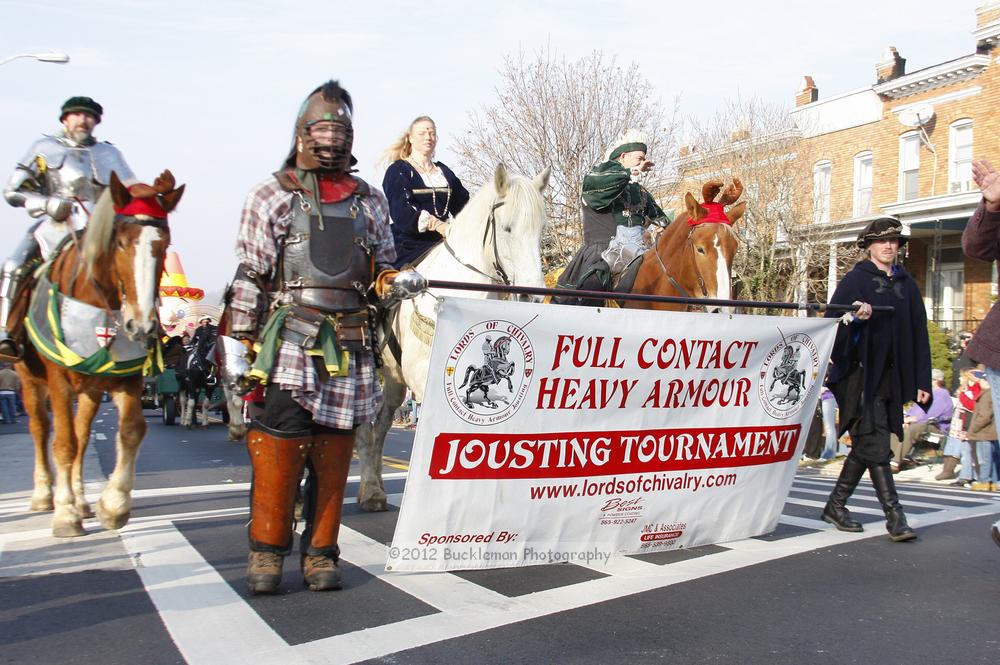
[[[917, 537], [906, 523], [889, 468], [889, 435], [903, 437], [903, 403], [927, 403], [931, 350], [927, 314], [916, 283], [896, 265], [906, 242], [899, 220], [873, 220], [858, 236], [866, 257], [837, 285], [831, 303], [858, 306], [838, 326], [827, 384], [840, 406], [840, 433], [850, 431], [851, 452], [823, 509], [822, 519], [841, 531], [863, 531], [851, 519], [847, 499], [865, 471], [886, 517], [893, 541]], [[873, 312], [888, 305], [892, 312]], [[828, 312], [828, 316], [836, 316]]]

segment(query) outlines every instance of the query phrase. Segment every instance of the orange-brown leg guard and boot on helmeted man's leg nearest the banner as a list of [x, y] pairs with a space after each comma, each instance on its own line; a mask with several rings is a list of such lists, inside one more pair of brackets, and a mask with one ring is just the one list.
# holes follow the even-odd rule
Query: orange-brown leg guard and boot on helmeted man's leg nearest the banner
[[352, 434], [317, 434], [313, 438], [301, 543], [302, 578], [310, 591], [341, 587], [337, 536], [353, 453]]

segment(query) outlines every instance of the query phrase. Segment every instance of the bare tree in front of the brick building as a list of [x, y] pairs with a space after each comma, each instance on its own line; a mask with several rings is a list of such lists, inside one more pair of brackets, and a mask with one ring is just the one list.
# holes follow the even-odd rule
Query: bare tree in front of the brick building
[[787, 110], [756, 99], [729, 102], [690, 125], [677, 165], [681, 189], [700, 192], [713, 177], [744, 184], [747, 212], [737, 226], [744, 242], [733, 265], [740, 297], [825, 301], [831, 251], [838, 274], [850, 261], [828, 223], [845, 211], [814, 198], [817, 157], [801, 128]]

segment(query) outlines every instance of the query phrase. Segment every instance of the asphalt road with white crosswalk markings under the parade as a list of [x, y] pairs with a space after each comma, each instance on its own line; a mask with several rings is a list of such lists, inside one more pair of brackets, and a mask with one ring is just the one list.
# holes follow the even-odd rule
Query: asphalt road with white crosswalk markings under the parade
[[[110, 405], [106, 405], [110, 407]], [[900, 484], [920, 538], [892, 543], [871, 486], [863, 534], [817, 520], [833, 478], [796, 477], [765, 537], [621, 557], [451, 574], [385, 573], [396, 509], [345, 507], [345, 589], [316, 594], [286, 562], [283, 593], [243, 589], [250, 473], [225, 429], [149, 434], [132, 520], [57, 541], [26, 510], [24, 424], [0, 426], [0, 663], [996, 663], [1000, 495]], [[111, 470], [114, 413], [88, 453]], [[398, 505], [412, 432], [386, 445]], [[348, 490], [353, 496], [356, 483]], [[381, 564], [379, 563], [381, 557]]]

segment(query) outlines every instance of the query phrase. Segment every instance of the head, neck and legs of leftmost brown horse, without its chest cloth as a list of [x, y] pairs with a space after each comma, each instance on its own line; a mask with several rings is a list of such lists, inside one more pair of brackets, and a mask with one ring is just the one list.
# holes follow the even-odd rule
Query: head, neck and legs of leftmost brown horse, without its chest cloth
[[[53, 261], [49, 273], [52, 284], [65, 295], [120, 316], [125, 336], [148, 344], [159, 331], [156, 296], [170, 244], [166, 213], [174, 209], [183, 192], [183, 186], [175, 189], [170, 171], [164, 171], [152, 187], [137, 184], [128, 188], [112, 173], [111, 184], [95, 205], [83, 237], [64, 246]], [[107, 392], [118, 407], [117, 454], [115, 469], [97, 504], [97, 515], [105, 528], [124, 526], [132, 509], [135, 460], [146, 434], [139, 401], [142, 373], [81, 374], [50, 361], [32, 343], [25, 345], [17, 373], [24, 385], [24, 402], [35, 442], [31, 509], [55, 509], [52, 533], [57, 537], [85, 533], [82, 519], [93, 513], [83, 493], [83, 454], [94, 415]], [[46, 399], [51, 404], [53, 423], [49, 421]], [[55, 430], [54, 494], [48, 453], [51, 429]]]

